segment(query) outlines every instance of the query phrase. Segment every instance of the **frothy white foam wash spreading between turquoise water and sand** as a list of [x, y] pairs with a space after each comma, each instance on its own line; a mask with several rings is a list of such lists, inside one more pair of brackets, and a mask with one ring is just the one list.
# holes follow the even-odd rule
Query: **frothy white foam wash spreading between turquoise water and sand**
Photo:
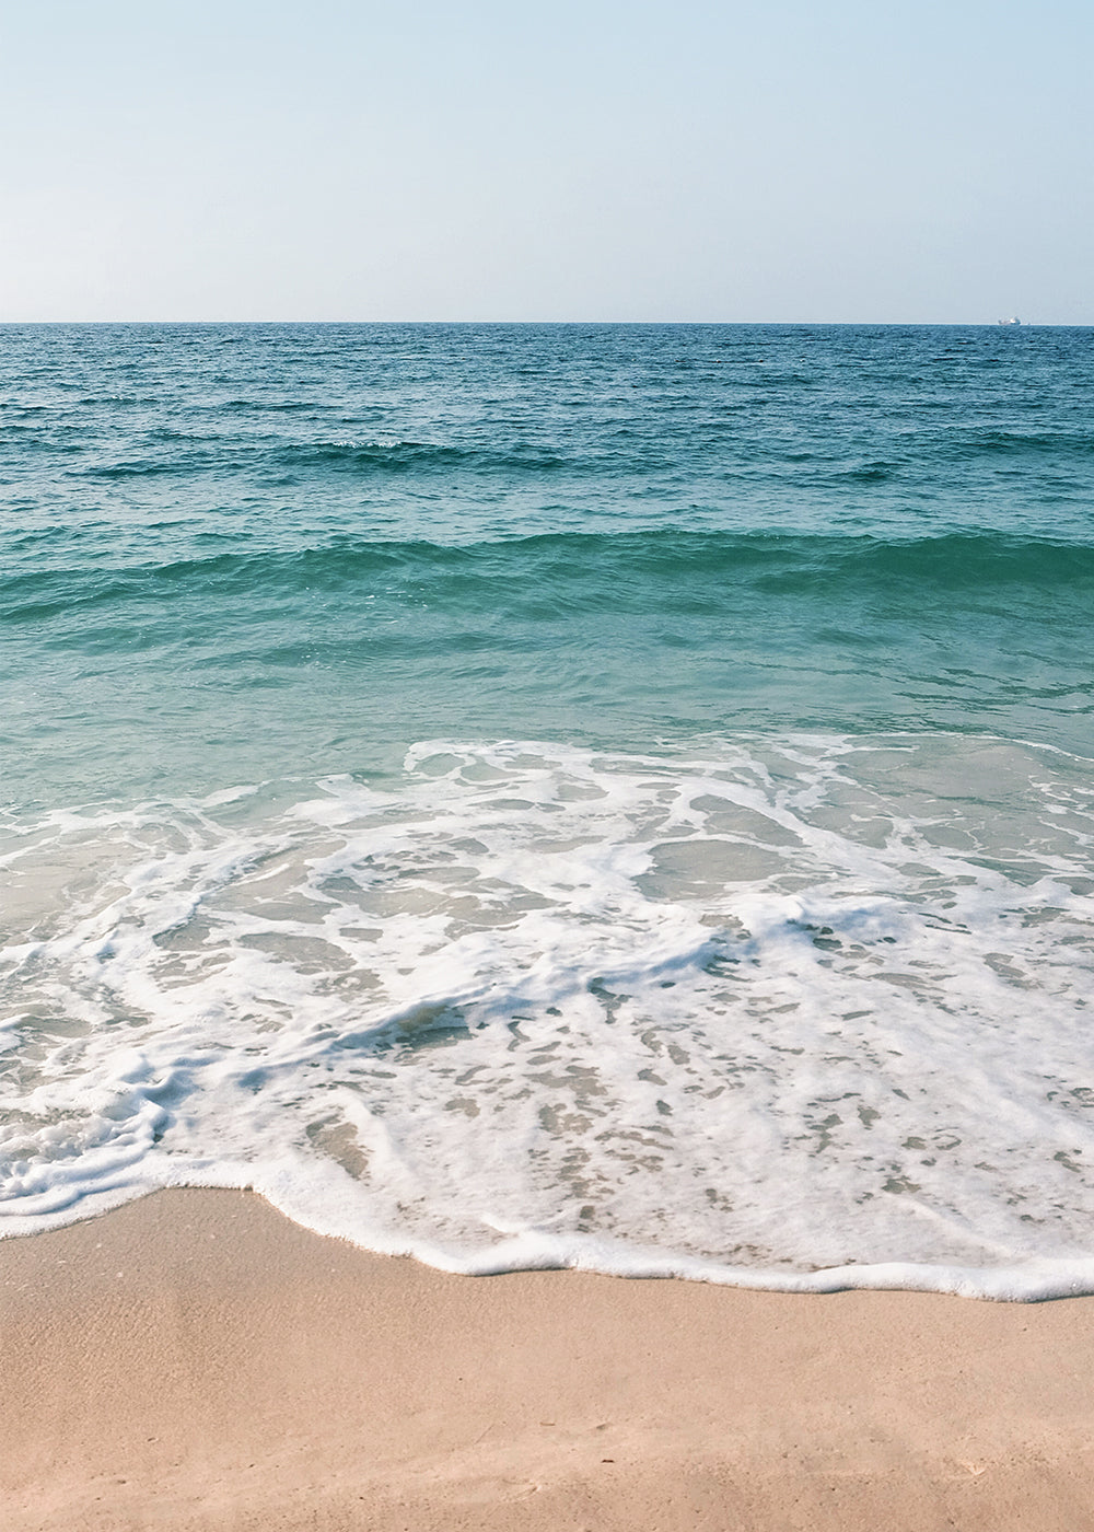
[[1088, 768], [434, 741], [12, 826], [0, 1232], [253, 1186], [452, 1270], [1094, 1291]]

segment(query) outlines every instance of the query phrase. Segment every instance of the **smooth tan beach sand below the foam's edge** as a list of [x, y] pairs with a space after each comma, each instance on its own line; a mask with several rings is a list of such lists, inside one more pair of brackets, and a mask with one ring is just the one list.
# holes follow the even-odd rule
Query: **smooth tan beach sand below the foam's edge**
[[443, 1276], [245, 1192], [0, 1242], [0, 1526], [1094, 1527], [1094, 1299]]

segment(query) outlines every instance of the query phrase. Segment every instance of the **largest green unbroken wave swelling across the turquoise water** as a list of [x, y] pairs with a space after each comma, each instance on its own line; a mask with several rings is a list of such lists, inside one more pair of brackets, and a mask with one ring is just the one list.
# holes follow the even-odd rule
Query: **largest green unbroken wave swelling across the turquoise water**
[[[72, 541], [66, 535], [64, 553]], [[1002, 533], [950, 533], [883, 541], [873, 536], [683, 532], [542, 533], [490, 542], [334, 538], [320, 545], [233, 550], [123, 568], [64, 562], [12, 576], [0, 620], [43, 622], [74, 607], [210, 596], [352, 593], [375, 582], [429, 584], [444, 596], [478, 597], [504, 587], [507, 601], [555, 599], [617, 605], [630, 596], [660, 604], [716, 604], [734, 588], [769, 594], [824, 591], [930, 594], [982, 601], [993, 593], [1069, 593], [1094, 587], [1094, 545]], [[660, 596], [657, 593], [662, 593]]]

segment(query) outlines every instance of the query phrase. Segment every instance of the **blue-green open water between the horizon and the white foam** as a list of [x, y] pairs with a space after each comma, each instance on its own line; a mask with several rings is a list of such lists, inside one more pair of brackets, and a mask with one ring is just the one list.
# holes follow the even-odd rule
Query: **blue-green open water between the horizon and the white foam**
[[1082, 749], [1091, 334], [8, 328], [6, 795], [449, 732]]

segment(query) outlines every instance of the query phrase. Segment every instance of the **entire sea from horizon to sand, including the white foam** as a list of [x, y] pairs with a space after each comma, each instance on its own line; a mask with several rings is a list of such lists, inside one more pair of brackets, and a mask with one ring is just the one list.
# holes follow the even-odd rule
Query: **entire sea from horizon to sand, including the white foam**
[[1094, 1291], [1094, 329], [0, 328], [0, 1232]]

